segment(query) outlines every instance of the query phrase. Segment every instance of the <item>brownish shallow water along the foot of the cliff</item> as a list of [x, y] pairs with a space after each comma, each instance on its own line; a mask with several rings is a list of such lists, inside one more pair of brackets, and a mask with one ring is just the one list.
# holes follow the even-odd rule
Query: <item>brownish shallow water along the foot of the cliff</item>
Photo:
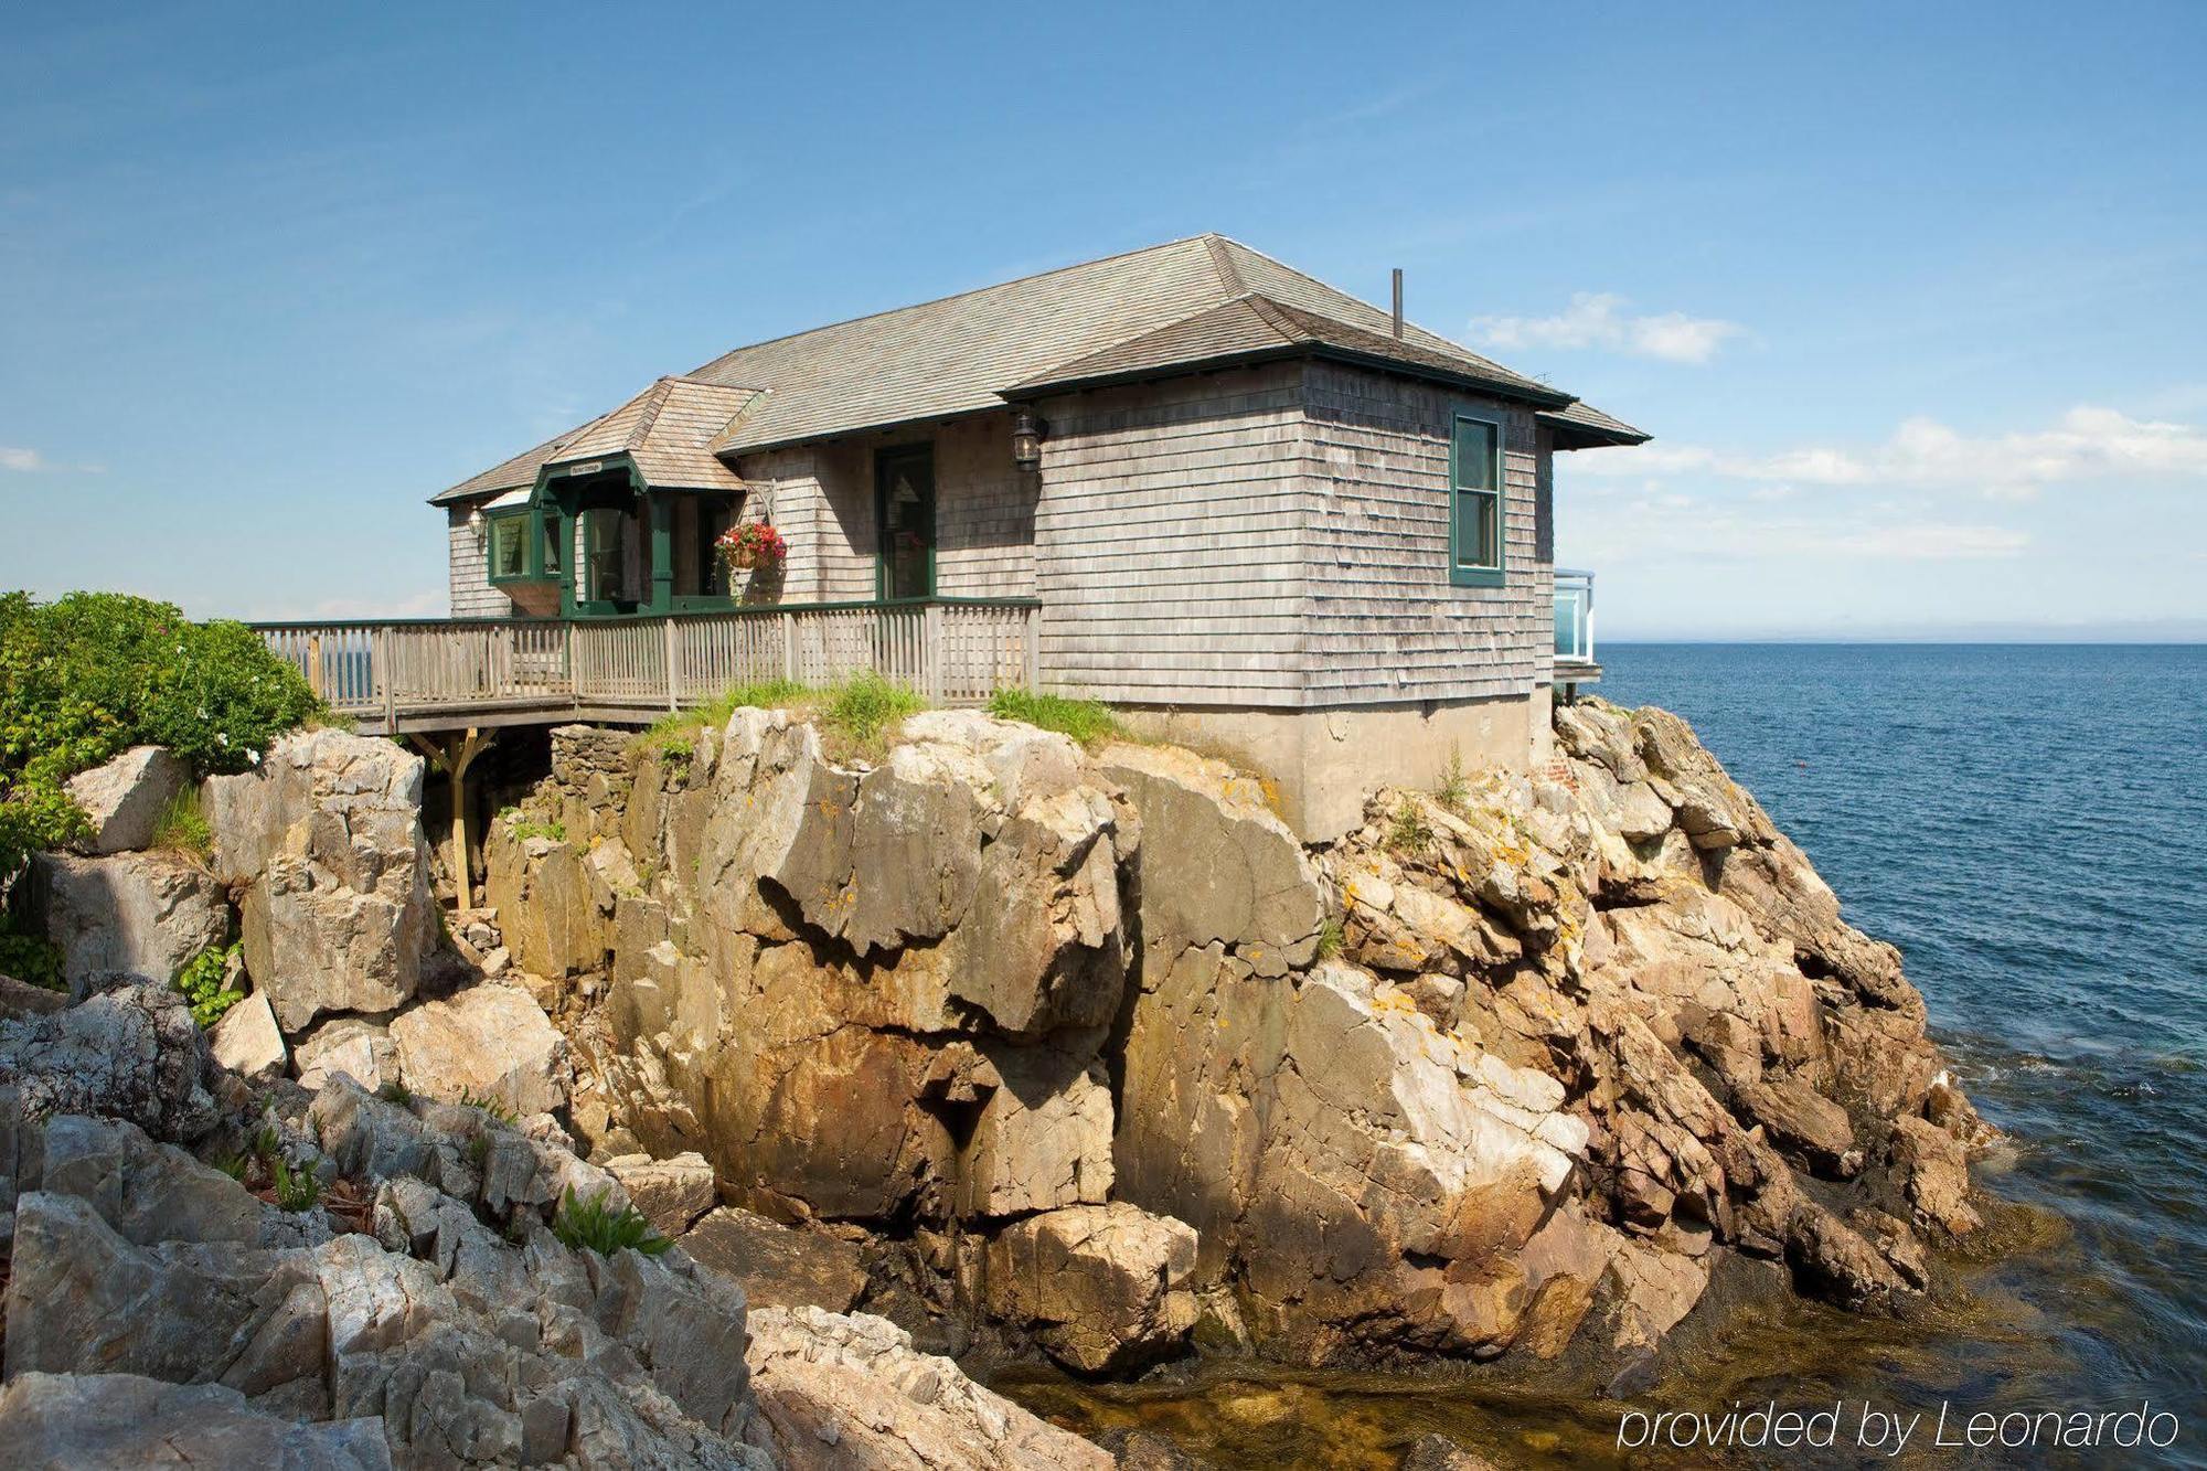
[[[1141, 1429], [1218, 1471], [1393, 1471], [1428, 1433], [1503, 1467], [1803, 1464], [1805, 1451], [1620, 1444], [1620, 1418], [1629, 1411], [1721, 1416], [1766, 1405], [1801, 1414], [1841, 1407], [1841, 1444], [1810, 1464], [1891, 1464], [1852, 1444], [1865, 1405], [1922, 1414], [1918, 1442], [1931, 1438], [1942, 1405], [1953, 1407], [1949, 1436], [1960, 1436], [1966, 1414], [1984, 1407], [2037, 1414], [2077, 1405], [2081, 1365], [2019, 1292], [2064, 1279], [2081, 1314], [2119, 1330], [2121, 1303], [2072, 1270], [2070, 1248], [2072, 1232], [2059, 1217], [2000, 1208], [1969, 1257], [1938, 1261], [1940, 1290], [1905, 1316], [1858, 1316], [1792, 1294], [1755, 1294], [1717, 1321], [1682, 1325], [1655, 1385], [1616, 1400], [1591, 1385], [1558, 1385], [1554, 1376], [1540, 1383], [1507, 1361], [1384, 1374], [1212, 1358], [1141, 1383], [1077, 1380], [1035, 1367], [1004, 1369], [989, 1383], [1077, 1433]], [[2008, 1464], [1966, 1447], [1942, 1456], [1942, 1464]]]

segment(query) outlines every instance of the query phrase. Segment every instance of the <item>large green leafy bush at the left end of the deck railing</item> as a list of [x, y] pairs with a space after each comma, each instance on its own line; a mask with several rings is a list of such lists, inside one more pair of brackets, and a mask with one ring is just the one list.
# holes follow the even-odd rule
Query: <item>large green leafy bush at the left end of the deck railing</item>
[[121, 592], [0, 594], [0, 881], [84, 833], [71, 775], [135, 744], [168, 747], [194, 775], [245, 771], [322, 713], [243, 623]]

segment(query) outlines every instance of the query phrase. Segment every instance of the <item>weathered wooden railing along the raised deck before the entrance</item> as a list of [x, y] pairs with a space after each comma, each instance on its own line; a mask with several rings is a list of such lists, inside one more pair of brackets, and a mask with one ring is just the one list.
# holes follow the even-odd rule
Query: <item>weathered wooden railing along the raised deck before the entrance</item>
[[810, 603], [671, 618], [408, 618], [256, 623], [331, 709], [386, 731], [463, 716], [651, 711], [735, 685], [832, 685], [876, 671], [936, 705], [980, 705], [1037, 678], [1026, 599]]

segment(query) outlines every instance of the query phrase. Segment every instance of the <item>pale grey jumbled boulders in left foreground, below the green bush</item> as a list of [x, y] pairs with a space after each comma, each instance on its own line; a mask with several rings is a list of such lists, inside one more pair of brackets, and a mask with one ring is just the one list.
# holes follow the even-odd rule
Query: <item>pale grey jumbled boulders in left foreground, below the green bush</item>
[[[102, 780], [130, 811], [174, 773]], [[419, 793], [419, 760], [316, 731], [207, 784], [210, 857], [42, 859], [68, 877], [31, 917], [77, 943], [66, 994], [0, 978], [0, 1464], [1110, 1464], [660, 1235], [711, 1173], [576, 1153], [565, 1040], [439, 945]], [[252, 990], [210, 1036], [170, 952], [238, 928]]]

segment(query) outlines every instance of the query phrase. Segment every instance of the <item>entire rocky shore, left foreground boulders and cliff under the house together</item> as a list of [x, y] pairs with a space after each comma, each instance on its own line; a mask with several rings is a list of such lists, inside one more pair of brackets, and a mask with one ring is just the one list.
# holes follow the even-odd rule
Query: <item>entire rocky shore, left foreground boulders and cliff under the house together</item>
[[[1101, 1467], [938, 1352], [1629, 1385], [1739, 1292], [1922, 1292], [1989, 1131], [1900, 956], [1677, 718], [1556, 749], [1307, 848], [975, 713], [569, 727], [448, 928], [393, 744], [210, 782], [207, 859], [132, 753], [40, 861], [68, 994], [0, 983], [0, 1444]], [[234, 932], [210, 1036], [163, 981]]]

